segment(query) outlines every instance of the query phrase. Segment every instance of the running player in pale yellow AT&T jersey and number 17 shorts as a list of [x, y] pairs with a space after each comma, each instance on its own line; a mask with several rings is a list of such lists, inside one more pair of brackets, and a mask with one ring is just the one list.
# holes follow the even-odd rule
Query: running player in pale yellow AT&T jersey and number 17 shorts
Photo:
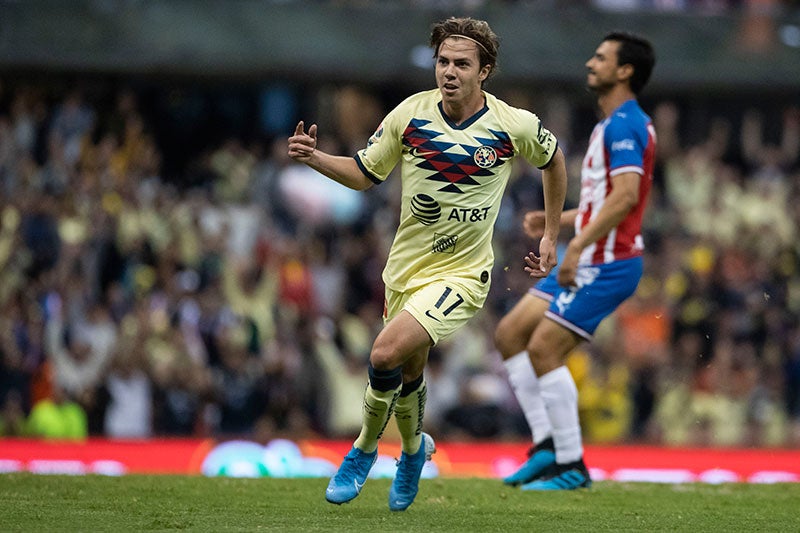
[[384, 328], [370, 352], [361, 433], [331, 478], [325, 495], [331, 503], [358, 496], [392, 414], [403, 452], [389, 508], [402, 511], [414, 501], [435, 451], [422, 432], [428, 351], [486, 300], [493, 227], [517, 155], [543, 170], [538, 275], [547, 276], [557, 262], [564, 156], [536, 115], [483, 90], [495, 70], [497, 36], [484, 21], [449, 18], [433, 25], [430, 45], [437, 88], [400, 103], [354, 157], [317, 150], [316, 125], [305, 131], [300, 122], [289, 138], [290, 157], [352, 189], [381, 184], [398, 163], [402, 170], [400, 224], [383, 272]]

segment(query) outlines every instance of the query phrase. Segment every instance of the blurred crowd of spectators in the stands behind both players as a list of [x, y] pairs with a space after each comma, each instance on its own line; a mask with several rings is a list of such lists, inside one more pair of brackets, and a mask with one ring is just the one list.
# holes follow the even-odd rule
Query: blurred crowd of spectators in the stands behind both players
[[[590, 97], [498, 95], [556, 133], [574, 206]], [[276, 85], [252, 109], [225, 93], [215, 115], [176, 88], [0, 83], [0, 435], [353, 438], [399, 179], [350, 191], [286, 138], [306, 114], [354, 153], [386, 100]], [[570, 357], [586, 441], [800, 446], [800, 111], [645, 109], [645, 277]], [[521, 221], [541, 203], [518, 165], [489, 301], [431, 352], [438, 438], [529, 439], [492, 336], [531, 284]]]

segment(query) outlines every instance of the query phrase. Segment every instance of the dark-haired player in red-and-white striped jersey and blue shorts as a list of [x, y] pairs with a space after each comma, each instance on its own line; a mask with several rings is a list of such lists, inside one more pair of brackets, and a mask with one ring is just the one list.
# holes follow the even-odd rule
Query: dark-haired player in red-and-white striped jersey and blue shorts
[[[591, 340], [603, 318], [636, 290], [642, 275], [642, 216], [653, 179], [655, 131], [636, 97], [655, 65], [651, 44], [610, 33], [586, 62], [587, 85], [601, 114], [581, 170], [577, 209], [558, 269], [539, 281], [498, 323], [495, 343], [533, 434], [530, 457], [505, 478], [523, 490], [588, 487], [578, 394], [567, 355]], [[527, 213], [526, 233], [541, 235], [543, 213]], [[539, 275], [531, 254], [525, 268]], [[538, 376], [538, 377], [537, 377]]]

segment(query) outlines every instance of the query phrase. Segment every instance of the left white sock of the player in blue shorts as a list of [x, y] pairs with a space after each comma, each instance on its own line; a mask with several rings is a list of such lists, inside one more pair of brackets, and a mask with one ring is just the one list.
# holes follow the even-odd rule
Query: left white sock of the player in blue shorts
[[553, 435], [553, 426], [545, 409], [539, 379], [533, 370], [530, 355], [526, 350], [506, 359], [503, 364], [508, 372], [511, 390], [514, 391], [514, 396], [533, 433], [533, 443], [539, 444]]

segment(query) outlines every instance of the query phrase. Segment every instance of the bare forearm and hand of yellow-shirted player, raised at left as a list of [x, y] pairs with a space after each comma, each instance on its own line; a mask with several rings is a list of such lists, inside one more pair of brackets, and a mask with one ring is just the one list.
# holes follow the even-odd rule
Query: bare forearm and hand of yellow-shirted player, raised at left
[[316, 124], [312, 124], [306, 132], [303, 121], [298, 122], [294, 134], [289, 137], [289, 157], [299, 163], [305, 163], [345, 187], [363, 191], [373, 185], [352, 157], [331, 155], [317, 150]]

